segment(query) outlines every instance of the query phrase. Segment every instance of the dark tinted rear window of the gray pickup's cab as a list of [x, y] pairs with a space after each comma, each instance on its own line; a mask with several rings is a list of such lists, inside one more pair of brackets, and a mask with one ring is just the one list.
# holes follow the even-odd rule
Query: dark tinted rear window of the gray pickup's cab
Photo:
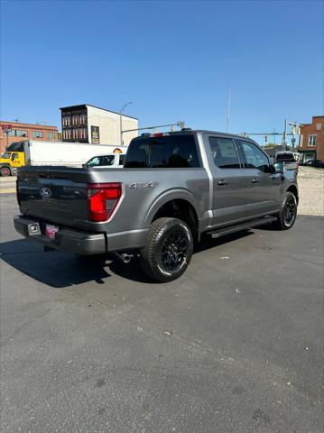
[[133, 140], [125, 156], [125, 168], [200, 167], [193, 135], [164, 135]]

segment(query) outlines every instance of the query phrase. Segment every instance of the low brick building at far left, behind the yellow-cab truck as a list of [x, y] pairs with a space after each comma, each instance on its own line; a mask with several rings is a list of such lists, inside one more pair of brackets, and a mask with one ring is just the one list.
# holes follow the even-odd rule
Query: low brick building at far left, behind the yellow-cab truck
[[[12, 130], [8, 133], [3, 131], [2, 125], [11, 124]], [[21, 124], [18, 122], [5, 122], [0, 120], [0, 152], [5, 151], [5, 146], [14, 142], [25, 142], [26, 140], [58, 141], [57, 126], [44, 124]]]

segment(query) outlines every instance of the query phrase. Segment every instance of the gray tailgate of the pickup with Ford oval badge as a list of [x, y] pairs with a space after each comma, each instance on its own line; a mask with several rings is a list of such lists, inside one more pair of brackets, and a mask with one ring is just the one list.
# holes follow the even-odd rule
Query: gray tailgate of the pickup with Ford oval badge
[[24, 215], [64, 226], [88, 220], [88, 170], [67, 167], [24, 167], [17, 190]]

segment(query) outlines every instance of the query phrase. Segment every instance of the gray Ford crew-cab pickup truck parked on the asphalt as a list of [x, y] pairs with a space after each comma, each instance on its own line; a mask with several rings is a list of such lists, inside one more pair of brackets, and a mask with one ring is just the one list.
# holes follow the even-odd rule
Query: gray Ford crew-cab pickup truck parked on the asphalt
[[23, 236], [83, 255], [139, 253], [155, 281], [185, 272], [202, 233], [212, 237], [295, 222], [295, 170], [275, 167], [242, 136], [181, 130], [142, 134], [124, 169], [24, 167], [18, 172]]

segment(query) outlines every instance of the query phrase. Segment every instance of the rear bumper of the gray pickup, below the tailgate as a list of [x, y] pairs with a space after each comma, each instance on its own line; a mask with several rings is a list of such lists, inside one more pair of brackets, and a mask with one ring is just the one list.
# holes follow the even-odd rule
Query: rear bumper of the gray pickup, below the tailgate
[[51, 239], [42, 234], [30, 234], [29, 226], [36, 223], [39, 224], [40, 221], [22, 216], [14, 217], [14, 227], [16, 231], [43, 246], [81, 255], [102, 254], [107, 252], [106, 237], [103, 233], [93, 234], [73, 230], [71, 228], [60, 228], [55, 235], [55, 239]]

